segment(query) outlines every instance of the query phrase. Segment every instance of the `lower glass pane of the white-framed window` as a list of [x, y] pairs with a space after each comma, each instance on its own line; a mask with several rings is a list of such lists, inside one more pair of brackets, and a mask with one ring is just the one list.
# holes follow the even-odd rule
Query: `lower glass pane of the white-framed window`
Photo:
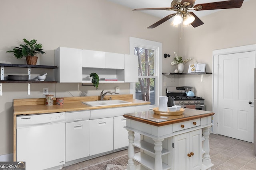
[[150, 105], [156, 104], [155, 78], [139, 78], [136, 83], [136, 99], [150, 102]]

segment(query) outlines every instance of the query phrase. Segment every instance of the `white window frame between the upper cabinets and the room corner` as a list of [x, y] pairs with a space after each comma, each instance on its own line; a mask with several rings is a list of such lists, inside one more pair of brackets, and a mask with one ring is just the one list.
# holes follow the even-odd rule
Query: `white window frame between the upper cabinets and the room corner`
[[[140, 47], [145, 49], [154, 49], [155, 50], [155, 76], [156, 78], [156, 104], [150, 105], [150, 109], [158, 106], [158, 98], [162, 96], [162, 43], [156, 41], [150, 41], [146, 39], [139, 39], [135, 37], [129, 37], [130, 41], [130, 55], [134, 55], [134, 47]], [[148, 78], [152, 76], [147, 76]], [[135, 83], [130, 83], [130, 94], [133, 94], [133, 98], [136, 98], [135, 95]]]

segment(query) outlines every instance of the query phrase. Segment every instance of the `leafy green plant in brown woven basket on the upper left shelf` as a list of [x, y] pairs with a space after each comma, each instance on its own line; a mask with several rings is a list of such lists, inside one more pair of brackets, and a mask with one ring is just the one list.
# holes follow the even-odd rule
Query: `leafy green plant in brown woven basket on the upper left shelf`
[[19, 47], [15, 47], [10, 51], [6, 51], [6, 53], [14, 53], [14, 56], [17, 59], [22, 59], [23, 57], [26, 57], [27, 64], [36, 65], [38, 57], [35, 55], [37, 53], [45, 53], [42, 49], [42, 44], [36, 43], [35, 39], [28, 41], [24, 38], [23, 41], [26, 43], [25, 45], [20, 44]]

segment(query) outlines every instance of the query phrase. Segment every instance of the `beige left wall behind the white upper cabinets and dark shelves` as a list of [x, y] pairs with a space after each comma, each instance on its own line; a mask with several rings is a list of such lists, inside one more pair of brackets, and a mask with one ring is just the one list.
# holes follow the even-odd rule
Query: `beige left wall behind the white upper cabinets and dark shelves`
[[[18, 46], [23, 38], [42, 43], [47, 54], [38, 64], [54, 65], [54, 49], [59, 46], [80, 49], [129, 53], [129, 36], [162, 43], [163, 53], [178, 51], [178, 29], [164, 23], [156, 29], [146, 29], [159, 18], [113, 4], [106, 0], [1, 0], [0, 2], [0, 63], [26, 64], [7, 50]], [[162, 57], [164, 58], [164, 57]], [[162, 70], [170, 71], [170, 57], [163, 62]], [[72, 63], [70, 63], [72, 64]], [[5, 76], [27, 69], [5, 68]], [[52, 70], [32, 69], [32, 77]], [[44, 98], [42, 88], [48, 87], [57, 97], [78, 96], [79, 91], [89, 96], [101, 90], [120, 87], [120, 94], [129, 93], [129, 84], [100, 84], [99, 89], [80, 84], [2, 84], [0, 96], [0, 155], [12, 153], [12, 102], [15, 98]], [[164, 90], [165, 92], [165, 90]], [[70, 94], [71, 93], [71, 94]]]

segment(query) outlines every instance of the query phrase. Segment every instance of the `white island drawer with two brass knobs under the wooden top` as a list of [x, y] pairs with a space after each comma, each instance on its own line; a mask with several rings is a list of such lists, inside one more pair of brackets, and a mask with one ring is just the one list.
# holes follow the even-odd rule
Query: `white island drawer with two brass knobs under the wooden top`
[[189, 121], [183, 121], [179, 123], [174, 123], [173, 124], [173, 132], [188, 129], [191, 127], [196, 127], [201, 125], [201, 119], [194, 119], [194, 120], [189, 120]]

